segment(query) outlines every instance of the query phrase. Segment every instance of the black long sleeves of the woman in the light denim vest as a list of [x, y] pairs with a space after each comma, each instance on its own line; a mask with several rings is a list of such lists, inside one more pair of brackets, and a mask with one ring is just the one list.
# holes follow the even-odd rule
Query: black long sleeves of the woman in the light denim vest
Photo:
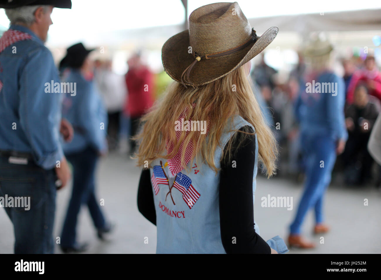
[[[251, 128], [248, 131], [253, 132]], [[244, 138], [234, 153], [236, 167], [221, 160], [219, 182], [219, 218], [221, 241], [226, 253], [271, 253], [270, 246], [254, 230], [253, 173], [255, 165], [255, 136], [245, 137], [237, 132], [232, 147]], [[227, 147], [228, 145], [226, 145]], [[149, 169], [141, 173], [138, 189], [138, 209], [156, 225], [154, 195]], [[236, 243], [232, 243], [232, 238]]]

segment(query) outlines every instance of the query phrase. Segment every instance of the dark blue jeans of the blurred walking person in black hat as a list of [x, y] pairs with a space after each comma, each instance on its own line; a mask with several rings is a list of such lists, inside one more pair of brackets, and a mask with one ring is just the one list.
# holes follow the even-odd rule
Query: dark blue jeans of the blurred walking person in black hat
[[76, 244], [76, 227], [81, 205], [89, 208], [94, 226], [97, 229], [105, 227], [105, 219], [95, 198], [95, 168], [98, 161], [96, 150], [91, 147], [66, 155], [73, 166], [73, 189], [67, 208], [64, 227], [61, 234], [61, 246], [72, 247]]

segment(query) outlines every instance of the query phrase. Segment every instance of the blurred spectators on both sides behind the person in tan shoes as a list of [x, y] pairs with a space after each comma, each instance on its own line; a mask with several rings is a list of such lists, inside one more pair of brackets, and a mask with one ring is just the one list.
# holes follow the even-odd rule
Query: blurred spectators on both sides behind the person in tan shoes
[[[263, 113], [279, 141], [278, 174], [301, 181], [305, 163], [301, 152], [296, 101], [306, 91], [306, 75], [309, 71], [303, 54], [299, 53], [298, 56], [299, 62], [286, 80], [279, 78], [278, 71], [268, 66], [263, 56], [251, 78], [259, 93], [257, 98], [262, 103]], [[381, 72], [373, 53], [363, 57], [353, 55], [341, 58], [340, 64], [344, 72], [342, 78], [346, 101], [343, 114], [348, 139], [343, 154], [336, 161], [333, 176], [341, 174], [336, 177], [341, 178], [346, 185], [371, 183], [379, 187], [381, 169], [370, 157], [367, 143], [380, 111]]]

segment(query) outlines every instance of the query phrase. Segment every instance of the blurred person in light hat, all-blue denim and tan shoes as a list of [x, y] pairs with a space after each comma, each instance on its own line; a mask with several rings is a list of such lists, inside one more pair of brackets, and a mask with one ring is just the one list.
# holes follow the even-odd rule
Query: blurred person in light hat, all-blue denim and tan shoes
[[[333, 46], [327, 40], [315, 38], [309, 43], [305, 53], [311, 60], [312, 69], [306, 82], [311, 84], [306, 83], [306, 87], [301, 88], [296, 102], [301, 146], [306, 157], [306, 182], [290, 226], [288, 242], [290, 246], [300, 248], [315, 247], [314, 243], [301, 236], [301, 226], [310, 208], [315, 210], [315, 234], [329, 230], [323, 218], [323, 198], [331, 181], [336, 154], [343, 152], [347, 139], [344, 126], [345, 85], [343, 79], [329, 69], [331, 50]], [[311, 85], [321, 85], [321, 89], [316, 87], [310, 91], [308, 86]]]

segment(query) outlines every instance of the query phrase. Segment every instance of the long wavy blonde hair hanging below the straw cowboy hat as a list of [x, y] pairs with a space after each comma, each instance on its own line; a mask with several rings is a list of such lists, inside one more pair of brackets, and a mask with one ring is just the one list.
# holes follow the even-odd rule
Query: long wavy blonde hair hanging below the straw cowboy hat
[[[175, 122], [185, 111], [187, 114], [184, 122], [189, 119], [206, 120], [208, 133], [189, 131], [186, 135], [185, 131], [181, 131], [181, 137], [177, 141]], [[236, 114], [255, 127], [259, 161], [266, 167], [266, 174], [269, 178], [275, 174], [276, 170], [277, 143], [264, 120], [244, 67], [239, 67], [225, 77], [198, 88], [190, 86], [185, 88], [178, 82], [168, 86], [163, 98], [157, 101], [151, 111], [141, 120], [144, 126], [141, 133], [135, 138], [140, 142], [136, 154], [137, 165], [144, 165], [146, 160], [150, 165], [157, 158], [173, 158], [184, 140], [181, 151], [182, 166], [185, 166], [186, 147], [192, 142], [194, 153], [191, 161], [193, 159], [196, 162], [202, 160], [217, 172], [218, 168], [216, 168], [214, 160], [215, 151], [218, 146], [221, 146], [220, 138], [228, 119]], [[243, 130], [237, 131], [253, 134]], [[166, 151], [167, 142], [174, 144], [174, 149], [170, 154]], [[237, 149], [237, 147], [232, 147], [232, 142], [229, 141], [229, 146], [223, 152], [222, 158], [230, 159], [232, 152]]]

